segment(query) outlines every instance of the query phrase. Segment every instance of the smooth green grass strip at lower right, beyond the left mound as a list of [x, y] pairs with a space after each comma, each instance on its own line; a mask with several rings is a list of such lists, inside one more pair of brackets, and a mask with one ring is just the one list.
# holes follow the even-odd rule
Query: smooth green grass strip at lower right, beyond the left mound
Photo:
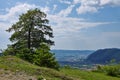
[[62, 69], [62, 73], [65, 73], [68, 76], [75, 77], [76, 80], [120, 80], [117, 77], [111, 77], [104, 73], [92, 72], [92, 71], [83, 71], [78, 69]]

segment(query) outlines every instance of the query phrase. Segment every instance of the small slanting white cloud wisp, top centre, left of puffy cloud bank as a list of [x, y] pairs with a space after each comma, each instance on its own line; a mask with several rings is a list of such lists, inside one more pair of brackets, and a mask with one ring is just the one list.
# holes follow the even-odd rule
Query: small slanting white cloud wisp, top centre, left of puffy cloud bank
[[74, 8], [75, 5], [70, 5], [68, 6], [68, 8], [64, 9], [64, 10], [61, 10], [58, 15], [59, 16], [62, 16], [62, 17], [66, 17], [68, 16], [71, 12], [72, 12], [72, 9]]

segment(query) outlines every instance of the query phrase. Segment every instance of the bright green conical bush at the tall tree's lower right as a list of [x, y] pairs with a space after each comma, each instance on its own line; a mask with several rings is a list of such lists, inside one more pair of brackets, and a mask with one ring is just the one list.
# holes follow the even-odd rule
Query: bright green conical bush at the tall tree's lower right
[[34, 54], [34, 63], [39, 66], [59, 69], [59, 65], [55, 60], [54, 54], [50, 52], [49, 47], [46, 44], [42, 44], [40, 49], [36, 50]]

